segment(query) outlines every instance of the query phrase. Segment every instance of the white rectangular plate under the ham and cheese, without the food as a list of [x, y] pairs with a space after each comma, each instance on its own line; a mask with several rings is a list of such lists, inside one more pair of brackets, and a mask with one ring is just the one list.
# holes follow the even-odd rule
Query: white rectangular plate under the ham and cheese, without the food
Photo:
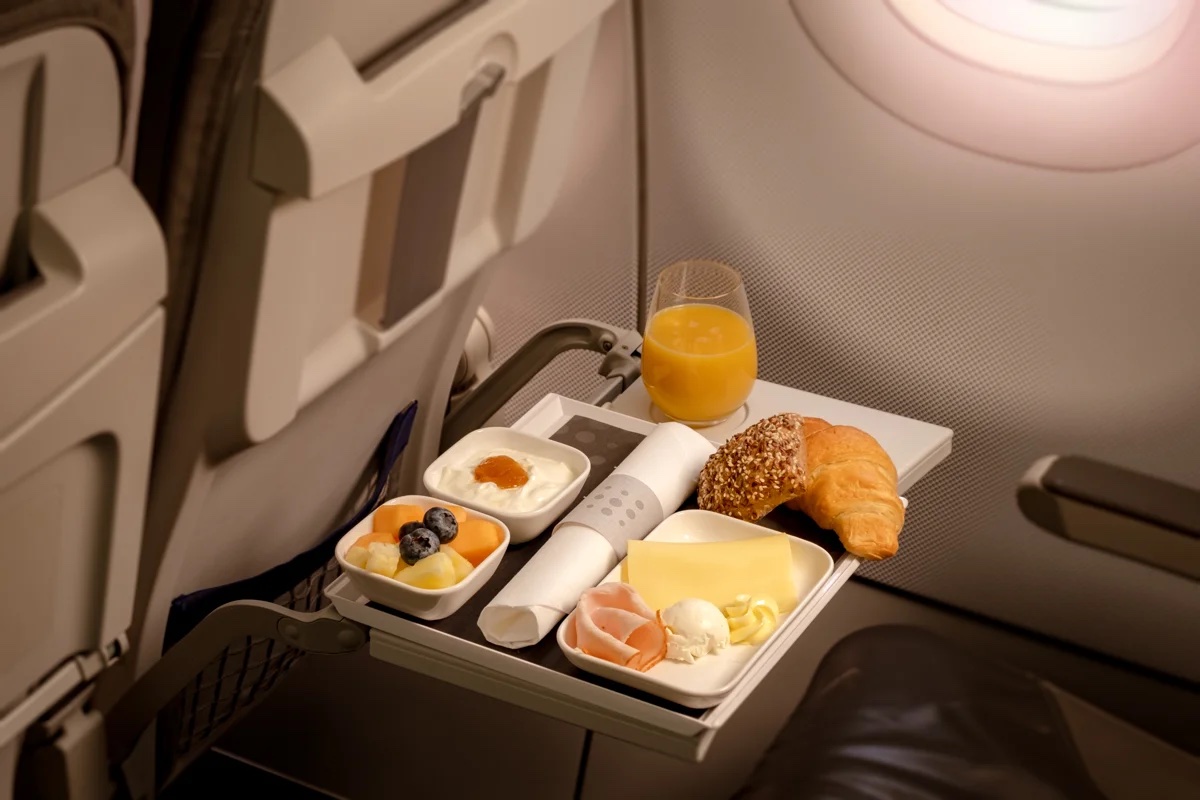
[[[760, 536], [784, 536], [755, 525], [710, 511], [679, 511], [646, 536], [654, 542], [727, 542]], [[720, 652], [704, 656], [696, 663], [661, 661], [646, 672], [629, 669], [602, 658], [589, 656], [576, 649], [569, 640], [574, 638], [575, 612], [558, 626], [558, 646], [580, 669], [624, 684], [649, 694], [661, 697], [692, 709], [718, 705], [737, 686], [737, 682], [758, 660], [760, 654], [787, 627], [799, 620], [797, 612], [804, 607], [817, 588], [833, 572], [833, 559], [821, 547], [803, 539], [788, 536], [792, 548], [792, 579], [796, 582], [799, 602], [796, 609], [784, 614], [779, 625], [758, 645], [736, 644]], [[620, 565], [605, 576], [600, 583], [619, 583]]]

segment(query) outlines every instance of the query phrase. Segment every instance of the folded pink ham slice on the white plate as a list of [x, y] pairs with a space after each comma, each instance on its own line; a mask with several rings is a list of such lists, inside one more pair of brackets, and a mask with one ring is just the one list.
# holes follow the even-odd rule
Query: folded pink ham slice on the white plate
[[646, 672], [666, 656], [667, 634], [632, 587], [605, 583], [580, 595], [575, 645], [589, 656]]

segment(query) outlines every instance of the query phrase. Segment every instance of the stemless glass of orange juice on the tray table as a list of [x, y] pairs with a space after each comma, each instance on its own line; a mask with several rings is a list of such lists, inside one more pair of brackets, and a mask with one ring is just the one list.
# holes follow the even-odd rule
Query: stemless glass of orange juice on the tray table
[[694, 427], [738, 410], [758, 375], [742, 276], [716, 261], [662, 270], [642, 342], [642, 380], [666, 416]]

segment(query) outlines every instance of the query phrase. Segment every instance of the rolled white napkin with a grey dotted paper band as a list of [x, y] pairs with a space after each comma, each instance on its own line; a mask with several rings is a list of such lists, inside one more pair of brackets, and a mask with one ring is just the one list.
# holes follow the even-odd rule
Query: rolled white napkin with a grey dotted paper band
[[696, 491], [715, 450], [685, 425], [655, 427], [484, 608], [484, 638], [511, 649], [540, 642], [625, 558], [626, 542], [654, 530]]

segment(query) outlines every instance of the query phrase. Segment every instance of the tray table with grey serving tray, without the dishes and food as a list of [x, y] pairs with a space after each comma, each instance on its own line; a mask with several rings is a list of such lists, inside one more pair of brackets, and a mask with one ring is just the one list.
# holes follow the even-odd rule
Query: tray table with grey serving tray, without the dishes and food
[[[817, 415], [806, 405], [797, 408]], [[936, 451], [932, 463], [944, 458], [949, 451], [950, 432], [946, 428], [862, 410], [911, 423], [913, 433], [924, 434], [924, 450], [929, 453]], [[512, 427], [586, 452], [593, 465], [581, 492], [584, 497], [637, 446], [654, 423], [548, 395]], [[924, 461], [929, 462], [929, 458]], [[932, 464], [922, 465], [924, 473]], [[902, 470], [900, 463], [896, 467]], [[916, 475], [908, 481], [904, 477], [901, 471], [901, 489], [910, 486]], [[638, 746], [698, 762], [721, 726], [797, 642], [859, 564], [857, 558], [841, 548], [834, 534], [816, 528], [804, 515], [779, 510], [763, 524], [820, 545], [834, 558], [834, 569], [811, 599], [793, 612], [794, 621], [788, 624], [787, 630], [763, 645], [766, 651], [733, 691], [720, 704], [704, 710], [676, 705], [577, 669], [559, 650], [553, 631], [538, 644], [520, 650], [499, 648], [484, 639], [476, 625], [480, 610], [547, 541], [545, 534], [526, 545], [510, 547], [491, 581], [458, 612], [443, 620], [424, 621], [371, 603], [346, 576], [335, 581], [326, 589], [326, 595], [340, 614], [371, 627], [371, 655], [377, 658]]]

